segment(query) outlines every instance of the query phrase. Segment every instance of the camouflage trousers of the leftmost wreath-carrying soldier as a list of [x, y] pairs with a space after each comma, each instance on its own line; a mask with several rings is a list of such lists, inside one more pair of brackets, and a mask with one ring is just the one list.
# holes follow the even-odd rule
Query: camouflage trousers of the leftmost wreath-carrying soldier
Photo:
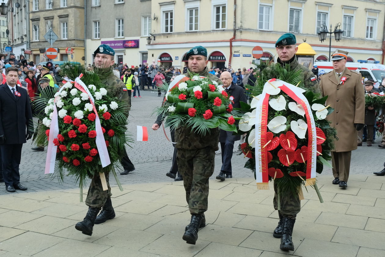
[[100, 181], [99, 172], [96, 172], [92, 177], [90, 187], [88, 188], [87, 198], [85, 199], [85, 205], [92, 208], [102, 208], [107, 201], [108, 197], [111, 197], [111, 188], [109, 183], [109, 172], [104, 173], [105, 180], [107, 181], [108, 190], [103, 191], [102, 182]]

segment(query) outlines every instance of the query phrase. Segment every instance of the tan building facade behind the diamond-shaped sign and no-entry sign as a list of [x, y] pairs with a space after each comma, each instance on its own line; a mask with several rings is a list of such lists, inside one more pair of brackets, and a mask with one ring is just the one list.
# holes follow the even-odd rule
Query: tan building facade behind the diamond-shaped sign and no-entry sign
[[[84, 63], [84, 0], [32, 0], [30, 13], [30, 57], [36, 64], [49, 59], [45, 49], [51, 47], [44, 35], [52, 29], [58, 39], [52, 47], [58, 49], [53, 61]], [[67, 54], [67, 47], [73, 53]]]

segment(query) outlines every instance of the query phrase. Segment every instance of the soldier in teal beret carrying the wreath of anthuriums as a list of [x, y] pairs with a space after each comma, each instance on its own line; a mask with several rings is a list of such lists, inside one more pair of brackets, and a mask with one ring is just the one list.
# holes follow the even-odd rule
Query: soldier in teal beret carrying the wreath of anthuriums
[[[311, 89], [313, 92], [320, 92], [320, 86], [314, 76], [308, 68], [298, 63], [295, 53], [298, 50], [296, 46], [295, 35], [286, 33], [283, 34], [275, 43], [275, 47], [278, 53], [278, 63], [281, 65], [289, 64], [291, 70], [301, 70], [303, 83], [305, 87]], [[280, 249], [281, 250], [294, 250], [294, 245], [291, 239], [293, 233], [293, 227], [297, 213], [301, 210], [301, 201], [298, 195], [294, 195], [291, 191], [280, 191], [281, 209], [278, 210], [278, 188], [274, 183], [274, 208], [278, 210], [278, 216], [280, 221], [278, 226], [273, 232], [274, 237], [281, 238]]]

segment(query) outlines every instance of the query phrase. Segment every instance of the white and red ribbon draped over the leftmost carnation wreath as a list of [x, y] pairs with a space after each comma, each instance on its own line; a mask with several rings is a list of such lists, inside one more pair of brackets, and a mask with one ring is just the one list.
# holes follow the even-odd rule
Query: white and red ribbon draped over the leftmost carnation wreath
[[[108, 166], [111, 164], [110, 156], [108, 154], [107, 145], [105, 144], [103, 131], [102, 131], [102, 125], [100, 124], [99, 115], [97, 114], [97, 109], [95, 107], [95, 100], [94, 97], [91, 95], [90, 91], [88, 90], [88, 87], [84, 84], [84, 82], [80, 79], [83, 76], [83, 74], [80, 74], [79, 77], [75, 79], [75, 81], [70, 81], [74, 83], [74, 86], [79, 89], [83, 93], [87, 93], [90, 103], [92, 104], [92, 109], [95, 112], [96, 118], [95, 118], [95, 131], [96, 131], [96, 138], [95, 143], [97, 146], [98, 154], [100, 157], [100, 162], [102, 164], [102, 167]], [[61, 87], [59, 90], [60, 92], [64, 89], [64, 87]], [[57, 135], [59, 134], [59, 123], [58, 123], [58, 114], [57, 114], [57, 108], [56, 108], [56, 102], [57, 97], [55, 97], [54, 100], [54, 111], [52, 114], [52, 121], [50, 126], [50, 132], [49, 132], [49, 141], [48, 141], [48, 150], [47, 150], [47, 160], [45, 161], [45, 172], [47, 173], [54, 173], [55, 171], [55, 160], [56, 160], [56, 151], [57, 146], [54, 145], [53, 141], [55, 138], [57, 138]]]

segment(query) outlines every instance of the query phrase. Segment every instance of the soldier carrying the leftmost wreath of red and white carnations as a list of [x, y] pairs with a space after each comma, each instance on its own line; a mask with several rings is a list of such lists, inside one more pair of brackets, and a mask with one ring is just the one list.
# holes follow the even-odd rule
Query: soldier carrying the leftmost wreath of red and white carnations
[[[100, 45], [94, 52], [95, 69], [100, 71], [101, 76], [104, 76], [104, 78], [102, 78], [102, 83], [106, 85], [107, 91], [117, 97], [119, 101], [128, 104], [129, 96], [126, 85], [112, 73], [111, 66], [114, 64], [114, 55], [115, 51], [111, 47], [104, 44]], [[128, 111], [126, 115], [128, 117]], [[128, 159], [127, 153], [126, 156], [122, 158], [122, 161], [124, 158]], [[75, 225], [75, 228], [82, 231], [85, 235], [92, 235], [94, 224], [103, 223], [106, 220], [115, 217], [114, 208], [112, 208], [111, 202], [112, 194], [109, 183], [109, 172], [105, 172], [104, 175], [107, 181], [108, 190], [103, 190], [100, 175], [96, 172], [92, 177], [87, 198], [85, 199], [85, 204], [89, 207], [88, 212], [85, 215], [84, 220]], [[102, 207], [103, 210], [96, 217]]]

